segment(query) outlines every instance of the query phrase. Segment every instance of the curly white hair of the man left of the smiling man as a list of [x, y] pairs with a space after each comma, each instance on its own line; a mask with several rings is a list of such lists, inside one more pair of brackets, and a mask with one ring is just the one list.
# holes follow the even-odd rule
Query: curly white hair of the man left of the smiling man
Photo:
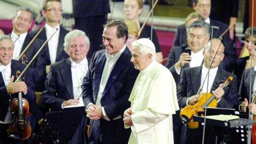
[[64, 50], [67, 53], [68, 51], [68, 45], [70, 44], [70, 42], [72, 41], [73, 38], [77, 38], [77, 37], [84, 37], [85, 43], [88, 46], [88, 50], [90, 48], [90, 40], [87, 37], [87, 35], [85, 34], [85, 32], [75, 29], [73, 31], [70, 31], [69, 33], [66, 34], [65, 38], [64, 38]]

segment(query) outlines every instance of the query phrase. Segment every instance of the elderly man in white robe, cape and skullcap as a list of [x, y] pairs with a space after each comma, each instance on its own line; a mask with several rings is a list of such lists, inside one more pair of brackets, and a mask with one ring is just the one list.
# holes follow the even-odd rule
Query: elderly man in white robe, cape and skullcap
[[179, 110], [176, 84], [170, 71], [155, 59], [154, 44], [147, 38], [132, 43], [131, 62], [140, 70], [124, 112], [131, 127], [129, 144], [172, 144], [172, 114]]

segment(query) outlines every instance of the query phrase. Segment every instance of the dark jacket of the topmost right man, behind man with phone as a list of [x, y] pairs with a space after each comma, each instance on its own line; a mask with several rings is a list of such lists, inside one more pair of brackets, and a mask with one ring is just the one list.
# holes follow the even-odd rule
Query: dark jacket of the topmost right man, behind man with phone
[[[210, 19], [210, 25], [219, 27], [219, 30], [214, 29], [213, 38], [218, 38], [228, 27], [227, 24], [218, 22], [213, 19]], [[234, 63], [236, 62], [236, 49], [233, 48], [232, 41], [229, 38], [229, 32], [227, 32], [223, 36], [223, 44], [225, 47], [225, 50], [224, 50], [225, 57], [222, 62], [225, 65], [223, 65], [223, 68], [228, 72], [232, 72]], [[182, 24], [177, 27], [175, 38], [173, 41], [173, 46], [177, 47], [177, 46], [184, 46], [184, 45], [187, 45], [187, 33], [186, 33], [185, 24]]]

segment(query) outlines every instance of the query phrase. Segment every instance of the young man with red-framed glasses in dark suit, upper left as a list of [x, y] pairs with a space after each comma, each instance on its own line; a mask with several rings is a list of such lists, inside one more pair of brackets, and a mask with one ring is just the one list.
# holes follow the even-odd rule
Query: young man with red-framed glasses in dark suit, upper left
[[[48, 42], [48, 48], [44, 49], [44, 60], [46, 69], [43, 80], [45, 81], [46, 74], [50, 72], [50, 65], [56, 61], [61, 61], [64, 58], [67, 58], [68, 55], [65, 53], [64, 46], [64, 37], [69, 32], [65, 30], [60, 25], [60, 18], [62, 15], [62, 7], [60, 0], [45, 0], [43, 3], [42, 15], [45, 17], [45, 29], [38, 35], [38, 38], [46, 41], [51, 37], [51, 35], [57, 30], [53, 35], [51, 40]], [[38, 31], [33, 31], [31, 34], [35, 36]], [[44, 88], [44, 83], [42, 83], [40, 91]]]

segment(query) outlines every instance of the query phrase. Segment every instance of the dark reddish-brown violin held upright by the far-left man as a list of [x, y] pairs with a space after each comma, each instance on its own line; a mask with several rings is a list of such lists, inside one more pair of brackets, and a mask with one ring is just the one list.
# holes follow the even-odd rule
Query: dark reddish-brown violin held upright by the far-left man
[[[16, 72], [19, 77], [20, 71]], [[21, 81], [20, 79], [18, 81]], [[9, 125], [9, 135], [14, 139], [25, 140], [31, 135], [31, 125], [26, 118], [31, 114], [29, 111], [29, 102], [27, 99], [22, 98], [22, 92], [19, 92], [18, 98], [12, 100], [10, 105], [13, 122]]]

